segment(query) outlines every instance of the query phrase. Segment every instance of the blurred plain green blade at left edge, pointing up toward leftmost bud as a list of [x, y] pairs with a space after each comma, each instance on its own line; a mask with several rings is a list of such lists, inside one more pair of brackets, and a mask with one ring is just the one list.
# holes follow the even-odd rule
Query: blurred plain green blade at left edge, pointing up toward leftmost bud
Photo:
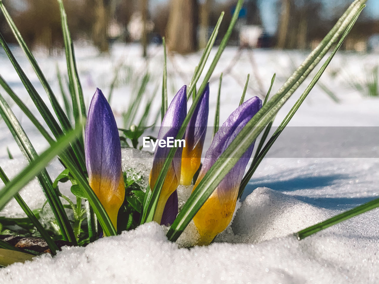
[[15, 176], [9, 183], [0, 190], [0, 210], [4, 208], [5, 204], [13, 198], [28, 182], [38, 175], [45, 166], [65, 148], [67, 148], [81, 132], [81, 125], [75, 130], [69, 131], [66, 136], [61, 137], [57, 142], [39, 155], [33, 162], [31, 162], [25, 169], [23, 169], [17, 176]]

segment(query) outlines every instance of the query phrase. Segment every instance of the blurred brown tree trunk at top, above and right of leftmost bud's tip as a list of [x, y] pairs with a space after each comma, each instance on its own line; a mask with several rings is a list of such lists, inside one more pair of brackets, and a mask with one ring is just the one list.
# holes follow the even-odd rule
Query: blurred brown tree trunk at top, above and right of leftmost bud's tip
[[95, 22], [92, 26], [92, 41], [101, 52], [109, 50], [108, 25], [110, 20], [110, 0], [92, 0]]

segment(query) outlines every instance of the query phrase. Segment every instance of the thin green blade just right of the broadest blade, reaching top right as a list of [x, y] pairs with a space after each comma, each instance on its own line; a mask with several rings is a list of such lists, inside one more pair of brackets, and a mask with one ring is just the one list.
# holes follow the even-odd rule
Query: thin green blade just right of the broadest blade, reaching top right
[[[246, 175], [243, 177], [243, 179], [241, 181], [240, 189], [239, 189], [239, 192], [238, 192], [238, 198], [241, 197], [241, 195], [243, 193], [243, 190], [245, 189], [247, 183], [249, 183], [249, 180], [251, 179], [251, 177], [254, 174], [255, 170], [257, 170], [258, 165], [260, 164], [260, 162], [262, 161], [262, 159], [265, 157], [265, 155], [267, 154], [268, 150], [271, 148], [271, 146], [274, 144], [274, 142], [276, 141], [276, 139], [279, 137], [280, 133], [282, 133], [282, 131], [284, 130], [284, 128], [288, 125], [288, 123], [292, 119], [293, 115], [299, 109], [299, 107], [301, 106], [301, 104], [303, 103], [303, 101], [305, 100], [305, 98], [307, 97], [307, 95], [309, 94], [309, 92], [312, 90], [312, 88], [318, 82], [318, 80], [321, 77], [321, 75], [324, 73], [326, 67], [329, 65], [329, 63], [332, 60], [332, 58], [334, 57], [335, 53], [337, 53], [338, 49], [341, 47], [341, 45], [342, 45], [343, 41], [345, 40], [346, 36], [351, 31], [351, 28], [354, 26], [354, 23], [356, 22], [356, 20], [357, 20], [357, 18], [359, 16], [360, 12], [362, 11], [362, 9], [363, 9], [363, 6], [359, 9], [359, 11], [357, 11], [356, 16], [349, 23], [349, 26], [346, 28], [346, 31], [343, 33], [343, 35], [342, 35], [340, 41], [338, 42], [337, 46], [334, 48], [334, 50], [332, 51], [332, 53], [330, 54], [330, 56], [327, 58], [326, 62], [323, 64], [323, 66], [320, 68], [320, 70], [318, 70], [318, 72], [316, 73], [315, 77], [313, 78], [313, 80], [311, 81], [311, 83], [307, 86], [307, 88], [305, 89], [305, 91], [303, 92], [303, 94], [300, 96], [300, 98], [296, 101], [296, 103], [294, 104], [294, 106], [291, 108], [290, 112], [288, 112], [288, 114], [286, 115], [286, 117], [280, 123], [280, 125], [277, 128], [277, 130], [274, 132], [273, 136], [271, 136], [271, 138], [269, 139], [269, 141], [267, 142], [267, 144], [265, 145], [265, 147], [263, 148], [263, 150], [260, 151], [260, 152], [258, 152], [258, 150], [257, 150], [256, 156], [254, 157], [254, 160], [253, 160], [253, 162], [252, 162], [249, 170], [247, 171]], [[259, 154], [257, 155], [257, 153], [259, 153]]]

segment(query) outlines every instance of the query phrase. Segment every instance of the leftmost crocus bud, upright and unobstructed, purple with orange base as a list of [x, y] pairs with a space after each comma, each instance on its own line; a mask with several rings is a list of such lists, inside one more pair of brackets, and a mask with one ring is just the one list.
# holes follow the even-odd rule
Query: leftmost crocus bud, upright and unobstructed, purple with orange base
[[85, 156], [89, 186], [117, 229], [117, 214], [125, 198], [121, 144], [111, 106], [98, 88], [88, 109]]

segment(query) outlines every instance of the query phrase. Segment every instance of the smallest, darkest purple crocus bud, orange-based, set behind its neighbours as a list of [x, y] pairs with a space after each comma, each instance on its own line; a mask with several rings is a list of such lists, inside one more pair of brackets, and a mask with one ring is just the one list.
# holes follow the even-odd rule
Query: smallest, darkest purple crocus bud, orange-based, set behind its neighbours
[[209, 112], [209, 83], [204, 89], [186, 129], [186, 147], [182, 153], [182, 172], [180, 184], [191, 184], [194, 174], [199, 169], [205, 134], [207, 133]]

